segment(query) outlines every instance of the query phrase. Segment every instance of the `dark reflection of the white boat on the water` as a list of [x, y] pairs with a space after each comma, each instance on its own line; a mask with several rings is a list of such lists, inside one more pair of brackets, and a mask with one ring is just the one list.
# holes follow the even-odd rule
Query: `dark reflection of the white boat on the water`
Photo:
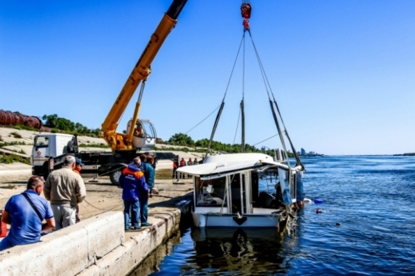
[[[276, 228], [194, 229], [194, 267], [201, 271], [217, 271], [228, 275], [249, 275], [284, 270], [284, 235]], [[295, 239], [290, 237], [290, 239]], [[227, 273], [225, 273], [227, 272]]]

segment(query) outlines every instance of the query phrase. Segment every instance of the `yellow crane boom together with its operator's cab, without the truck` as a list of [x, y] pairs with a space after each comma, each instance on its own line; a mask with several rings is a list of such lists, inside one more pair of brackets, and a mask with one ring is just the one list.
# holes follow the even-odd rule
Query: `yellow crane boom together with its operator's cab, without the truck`
[[[103, 122], [104, 139], [108, 142], [108, 145], [112, 148], [112, 151], [131, 151], [134, 149], [150, 149], [155, 145], [155, 129], [149, 120], [137, 121], [141, 105], [141, 97], [143, 95], [143, 89], [145, 80], [151, 72], [150, 65], [154, 57], [157, 55], [161, 45], [175, 27], [177, 23], [177, 17], [184, 8], [187, 0], [174, 0], [170, 5], [170, 8], [161, 19], [156, 31], [152, 34], [150, 41], [136, 66], [132, 69], [130, 76], [127, 78], [123, 89], [116, 98], [116, 101], [112, 105], [112, 109], [109, 111], [107, 118]], [[139, 100], [136, 102], [134, 109], [134, 115], [132, 120], [128, 122], [127, 134], [116, 133], [118, 127], [118, 121], [120, 120], [127, 104], [130, 102], [132, 95], [136, 91], [139, 84], [141, 84], [141, 91]], [[134, 131], [137, 134], [134, 135]]]

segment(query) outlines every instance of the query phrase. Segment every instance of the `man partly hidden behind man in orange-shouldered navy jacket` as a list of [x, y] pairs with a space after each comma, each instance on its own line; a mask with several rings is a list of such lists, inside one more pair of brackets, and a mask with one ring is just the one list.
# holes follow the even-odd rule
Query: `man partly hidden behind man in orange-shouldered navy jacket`
[[140, 220], [141, 226], [151, 226], [151, 223], [148, 223], [148, 198], [152, 197], [152, 188], [154, 187], [154, 168], [152, 163], [154, 158], [150, 155], [141, 154], [141, 170], [144, 173], [145, 181], [147, 181], [148, 189], [150, 193], [141, 193], [140, 194]]

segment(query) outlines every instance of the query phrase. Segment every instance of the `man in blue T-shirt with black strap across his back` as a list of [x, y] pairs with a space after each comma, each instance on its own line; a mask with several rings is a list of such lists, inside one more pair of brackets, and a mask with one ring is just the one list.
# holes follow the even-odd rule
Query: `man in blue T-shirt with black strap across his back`
[[[42, 193], [44, 181], [40, 176], [29, 178], [27, 190], [12, 196], [6, 203], [1, 221], [11, 225], [8, 235], [0, 241], [0, 251], [7, 248], [36, 243], [40, 233], [55, 227], [51, 206]], [[46, 219], [46, 223], [42, 221]]]

